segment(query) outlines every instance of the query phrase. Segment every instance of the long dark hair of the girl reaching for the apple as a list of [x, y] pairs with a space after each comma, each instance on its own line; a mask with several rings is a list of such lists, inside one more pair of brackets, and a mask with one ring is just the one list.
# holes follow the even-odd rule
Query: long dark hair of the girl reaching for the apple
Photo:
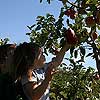
[[14, 52], [14, 66], [16, 67], [16, 78], [26, 74], [29, 67], [33, 65], [39, 50], [35, 43], [24, 42], [16, 47]]

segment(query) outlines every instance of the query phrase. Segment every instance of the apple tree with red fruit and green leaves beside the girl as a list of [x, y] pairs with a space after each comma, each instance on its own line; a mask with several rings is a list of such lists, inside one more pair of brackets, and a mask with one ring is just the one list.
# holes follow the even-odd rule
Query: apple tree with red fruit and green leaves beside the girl
[[[40, 2], [42, 3], [42, 0]], [[47, 2], [50, 4], [52, 0]], [[52, 98], [100, 99], [100, 0], [58, 2], [63, 4], [58, 18], [50, 13], [37, 16], [37, 22], [27, 26], [30, 32], [26, 33], [32, 42], [43, 47], [47, 55], [59, 53], [65, 40], [71, 45], [70, 57], [65, 57], [70, 64], [62, 63], [63, 67], [58, 68], [61, 73], [54, 76]], [[85, 69], [83, 63], [86, 57], [95, 60], [97, 72], [91, 67]]]

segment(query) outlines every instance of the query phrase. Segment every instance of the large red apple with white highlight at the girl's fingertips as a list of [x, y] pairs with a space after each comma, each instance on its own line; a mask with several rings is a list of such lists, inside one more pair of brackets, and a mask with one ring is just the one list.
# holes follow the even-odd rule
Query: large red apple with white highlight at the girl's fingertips
[[66, 36], [66, 40], [69, 44], [75, 45], [78, 42], [78, 38], [77, 38], [74, 30], [72, 30], [71, 28], [68, 28], [68, 30], [66, 30], [65, 36]]

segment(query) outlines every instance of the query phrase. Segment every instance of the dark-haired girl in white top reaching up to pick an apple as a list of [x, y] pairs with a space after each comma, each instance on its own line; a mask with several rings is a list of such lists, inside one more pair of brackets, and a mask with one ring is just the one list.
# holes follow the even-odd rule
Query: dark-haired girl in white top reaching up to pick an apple
[[56, 57], [46, 63], [42, 49], [35, 43], [20, 44], [14, 52], [16, 78], [21, 81], [24, 94], [28, 100], [49, 100], [52, 71], [63, 60], [69, 45], [60, 50]]

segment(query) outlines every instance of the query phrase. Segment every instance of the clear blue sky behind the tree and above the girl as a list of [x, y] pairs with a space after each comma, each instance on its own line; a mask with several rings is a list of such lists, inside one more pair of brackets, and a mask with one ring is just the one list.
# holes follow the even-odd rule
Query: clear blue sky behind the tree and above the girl
[[[0, 38], [9, 38], [10, 43], [21, 43], [29, 41], [26, 35], [29, 32], [27, 26], [36, 22], [39, 15], [45, 16], [46, 13], [59, 16], [62, 3], [53, 0], [48, 4], [46, 0], [0, 0]], [[68, 53], [66, 54], [68, 55]], [[47, 61], [52, 55], [47, 57]], [[92, 65], [95, 68], [94, 60], [86, 59], [85, 65]]]

